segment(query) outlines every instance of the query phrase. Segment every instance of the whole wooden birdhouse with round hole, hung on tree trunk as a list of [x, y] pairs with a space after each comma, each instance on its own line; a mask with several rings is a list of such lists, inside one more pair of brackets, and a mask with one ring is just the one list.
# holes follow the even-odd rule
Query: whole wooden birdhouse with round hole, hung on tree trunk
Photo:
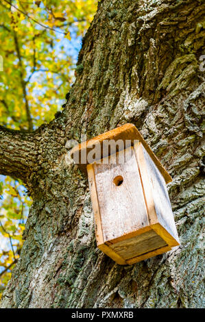
[[134, 264], [179, 245], [167, 193], [169, 173], [130, 123], [75, 146], [88, 174], [97, 247]]

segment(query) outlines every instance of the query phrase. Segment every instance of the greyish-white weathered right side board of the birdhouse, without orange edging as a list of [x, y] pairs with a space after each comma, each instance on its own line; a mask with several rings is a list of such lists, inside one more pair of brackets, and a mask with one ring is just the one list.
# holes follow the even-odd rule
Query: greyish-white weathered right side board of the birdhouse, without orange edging
[[[167, 192], [167, 186], [164, 177], [158, 170], [156, 164], [149, 158], [149, 154], [143, 149], [144, 160], [147, 166], [148, 181], [152, 187], [152, 197], [154, 201], [154, 208], [158, 218], [158, 222], [162, 227], [169, 232], [173, 238], [179, 243], [178, 232], [176, 230], [176, 224], [173, 217], [173, 212], [171, 209], [171, 203], [169, 200], [169, 194]], [[148, 184], [147, 184], [148, 185]], [[146, 186], [146, 196], [149, 199], [149, 192], [147, 193]], [[152, 206], [153, 207], [153, 206]], [[153, 221], [154, 223], [154, 221]]]

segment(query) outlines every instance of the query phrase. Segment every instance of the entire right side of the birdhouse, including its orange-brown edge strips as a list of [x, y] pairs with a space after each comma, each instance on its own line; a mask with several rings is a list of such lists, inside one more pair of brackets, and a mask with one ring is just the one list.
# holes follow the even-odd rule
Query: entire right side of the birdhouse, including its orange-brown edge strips
[[134, 152], [141, 176], [149, 223], [167, 241], [170, 247], [179, 245], [180, 240], [173, 218], [165, 179], [160, 171], [158, 171], [154, 162], [152, 162], [152, 159], [149, 158], [147, 151], [141, 143], [134, 145]]

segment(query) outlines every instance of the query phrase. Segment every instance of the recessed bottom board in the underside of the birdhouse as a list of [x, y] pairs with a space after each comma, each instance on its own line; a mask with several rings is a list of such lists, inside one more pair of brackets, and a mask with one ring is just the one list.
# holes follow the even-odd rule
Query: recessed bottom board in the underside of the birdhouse
[[145, 232], [140, 236], [114, 243], [113, 245], [110, 245], [110, 248], [118, 253], [119, 256], [128, 260], [165, 246], [167, 246], [165, 240], [158, 236], [154, 230], [149, 230], [149, 232]]

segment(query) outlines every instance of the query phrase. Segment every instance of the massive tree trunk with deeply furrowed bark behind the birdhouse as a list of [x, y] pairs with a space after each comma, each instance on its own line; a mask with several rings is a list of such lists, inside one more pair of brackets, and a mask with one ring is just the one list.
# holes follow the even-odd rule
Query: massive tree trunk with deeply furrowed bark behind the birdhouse
[[[19, 175], [34, 199], [2, 308], [204, 306], [203, 2], [101, 1], [63, 111], [32, 134], [1, 128], [10, 143], [0, 148], [0, 173]], [[173, 177], [181, 245], [123, 267], [96, 247], [88, 182], [65, 162], [65, 146], [128, 122]]]

